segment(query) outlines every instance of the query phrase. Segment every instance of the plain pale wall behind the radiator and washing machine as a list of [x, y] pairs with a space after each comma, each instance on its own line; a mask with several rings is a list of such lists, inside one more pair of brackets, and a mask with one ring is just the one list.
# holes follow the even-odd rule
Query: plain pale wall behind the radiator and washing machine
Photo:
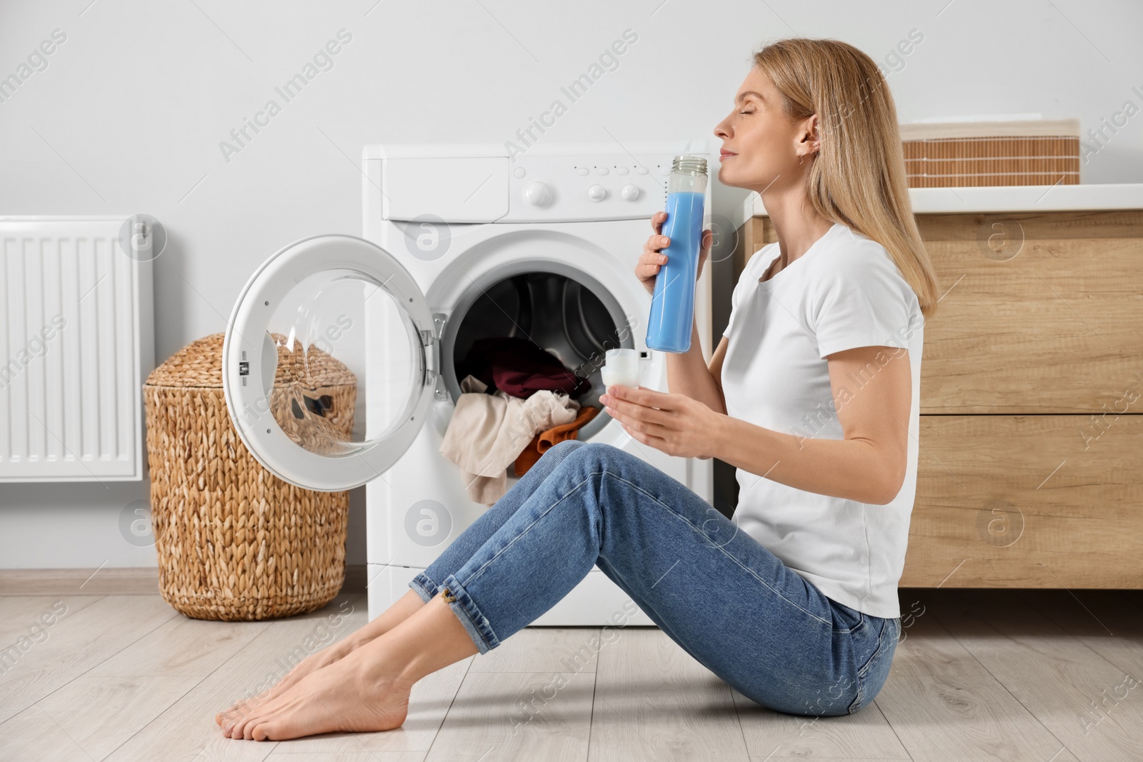
[[[0, 77], [54, 30], [66, 40], [0, 103], [0, 214], [146, 212], [155, 355], [222, 331], [254, 267], [314, 233], [360, 234], [361, 145], [503, 142], [624, 30], [638, 41], [545, 139], [710, 135], [760, 43], [833, 37], [886, 61], [898, 117], [1039, 112], [1086, 131], [1143, 105], [1143, 3], [1129, 0], [698, 0], [344, 3], [0, 0]], [[318, 6], [321, 6], [320, 8]], [[872, 10], [871, 8], [876, 8]], [[772, 10], [773, 9], [773, 10]], [[280, 86], [338, 30], [352, 41], [290, 103]], [[280, 114], [227, 162], [219, 142], [267, 99]], [[1143, 117], [1082, 167], [1143, 181]], [[717, 145], [717, 142], [716, 142]], [[192, 190], [193, 189], [193, 190]], [[743, 194], [716, 189], [730, 216]], [[152, 566], [119, 530], [145, 483], [0, 486], [0, 567]], [[365, 560], [354, 495], [350, 562]]]

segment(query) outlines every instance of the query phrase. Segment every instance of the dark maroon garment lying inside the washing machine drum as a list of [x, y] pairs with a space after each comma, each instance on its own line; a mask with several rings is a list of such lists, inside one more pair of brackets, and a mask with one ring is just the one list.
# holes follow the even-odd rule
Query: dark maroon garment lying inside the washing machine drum
[[551, 352], [517, 336], [478, 338], [457, 368], [456, 377], [472, 374], [488, 386], [528, 399], [541, 390], [563, 392], [573, 400], [591, 388], [591, 382], [568, 370]]

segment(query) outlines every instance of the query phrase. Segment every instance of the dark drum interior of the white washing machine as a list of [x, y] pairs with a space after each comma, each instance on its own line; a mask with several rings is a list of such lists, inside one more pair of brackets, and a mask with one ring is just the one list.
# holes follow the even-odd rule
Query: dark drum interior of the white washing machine
[[[518, 273], [473, 290], [466, 306], [457, 308], [450, 318], [455, 326], [454, 388], [470, 374], [480, 376], [473, 371], [487, 367], [481, 354], [489, 346], [518, 344], [521, 355], [529, 356], [537, 348], [543, 350], [565, 368], [566, 380], [555, 378], [554, 383], [565, 386], [581, 407], [600, 409], [599, 415], [578, 430], [576, 439], [586, 441], [602, 430], [610, 419], [599, 402], [605, 391], [600, 368], [606, 352], [634, 346], [632, 329], [615, 297], [553, 272]], [[495, 340], [498, 338], [515, 342], [499, 343]]]

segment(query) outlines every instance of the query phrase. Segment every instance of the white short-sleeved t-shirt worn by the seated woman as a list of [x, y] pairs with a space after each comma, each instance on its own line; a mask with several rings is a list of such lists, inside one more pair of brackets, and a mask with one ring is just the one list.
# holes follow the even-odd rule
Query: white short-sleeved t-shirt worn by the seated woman
[[[880, 243], [836, 223], [800, 257], [759, 282], [781, 255], [762, 247], [734, 288], [722, 362], [727, 414], [773, 431], [844, 439], [825, 356], [857, 346], [889, 346], [858, 393], [889, 362], [912, 371], [909, 467], [887, 505], [794, 489], [742, 468], [735, 522], [826, 597], [876, 617], [901, 616], [897, 580], [905, 562], [917, 488], [918, 411], [925, 319], [917, 295]], [[840, 394], [844, 408], [847, 395]]]

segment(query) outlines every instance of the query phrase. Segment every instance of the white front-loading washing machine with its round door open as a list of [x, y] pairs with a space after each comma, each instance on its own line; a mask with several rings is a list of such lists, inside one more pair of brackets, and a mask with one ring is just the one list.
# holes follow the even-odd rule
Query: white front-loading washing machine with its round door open
[[[518, 149], [366, 146], [362, 235], [285, 247], [231, 314], [225, 396], [254, 457], [306, 489], [366, 486], [370, 619], [488, 510], [439, 451], [478, 339], [523, 337], [554, 354], [589, 385], [577, 402], [600, 408], [577, 439], [622, 448], [712, 500], [712, 460], [639, 442], [599, 403], [613, 347], [638, 350], [640, 385], [668, 391], [666, 354], [646, 345], [652, 297], [633, 271], [672, 158], [717, 167], [708, 142]], [[710, 183], [706, 194], [709, 217]], [[695, 298], [708, 361], [710, 271]], [[509, 466], [507, 488], [517, 481]], [[628, 600], [596, 567], [534, 624], [653, 624]]]

